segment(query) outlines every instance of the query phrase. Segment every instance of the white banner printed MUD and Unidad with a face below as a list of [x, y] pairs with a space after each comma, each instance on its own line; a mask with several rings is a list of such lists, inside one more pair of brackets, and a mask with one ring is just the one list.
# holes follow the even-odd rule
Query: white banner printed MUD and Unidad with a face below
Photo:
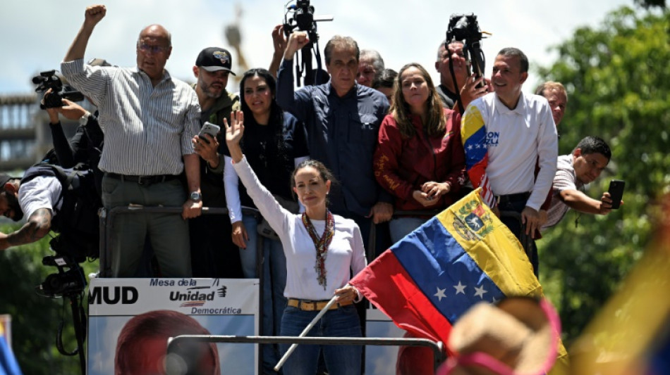
[[[130, 357], [132, 360], [121, 362], [152, 373], [163, 360], [152, 358], [152, 340], [158, 343], [157, 356], [165, 355], [166, 334], [257, 336], [258, 303], [257, 279], [92, 279], [88, 374], [113, 375], [116, 356]], [[171, 334], [174, 332], [178, 333]], [[200, 362], [192, 365], [200, 369], [218, 362], [220, 373], [257, 374], [256, 346], [214, 345], [218, 360], [196, 353]]]

